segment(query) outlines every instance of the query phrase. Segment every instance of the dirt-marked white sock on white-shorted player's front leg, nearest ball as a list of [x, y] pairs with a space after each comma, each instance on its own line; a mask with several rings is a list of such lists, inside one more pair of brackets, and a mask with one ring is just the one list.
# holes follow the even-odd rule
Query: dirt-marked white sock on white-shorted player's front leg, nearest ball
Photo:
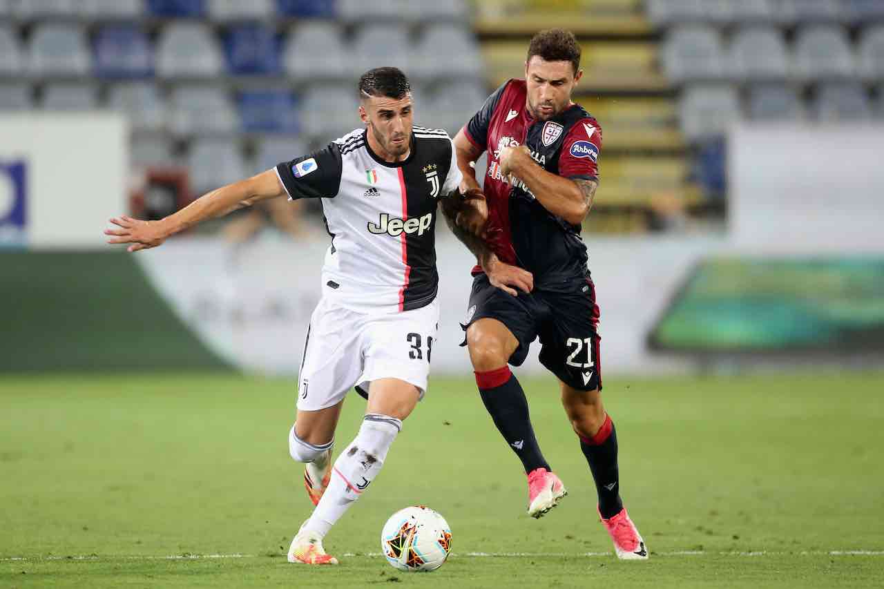
[[401, 429], [402, 422], [395, 417], [370, 413], [363, 418], [355, 440], [335, 461], [331, 482], [302, 529], [321, 537], [331, 530], [380, 472], [392, 440]]

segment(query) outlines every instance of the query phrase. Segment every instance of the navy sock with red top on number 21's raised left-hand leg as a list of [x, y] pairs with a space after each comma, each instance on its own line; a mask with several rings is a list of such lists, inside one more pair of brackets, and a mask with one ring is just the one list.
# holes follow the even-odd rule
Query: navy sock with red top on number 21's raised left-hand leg
[[541, 467], [551, 470], [537, 446], [522, 385], [509, 371], [509, 366], [476, 372], [476, 384], [485, 409], [491, 414], [500, 435], [519, 456], [525, 472]]

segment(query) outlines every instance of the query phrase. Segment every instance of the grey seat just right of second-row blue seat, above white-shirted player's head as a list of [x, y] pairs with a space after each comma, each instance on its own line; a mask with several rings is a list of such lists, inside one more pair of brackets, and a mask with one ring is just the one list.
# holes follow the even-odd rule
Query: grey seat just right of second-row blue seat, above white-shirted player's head
[[313, 22], [293, 28], [283, 47], [286, 73], [300, 80], [350, 79], [359, 75], [338, 25]]

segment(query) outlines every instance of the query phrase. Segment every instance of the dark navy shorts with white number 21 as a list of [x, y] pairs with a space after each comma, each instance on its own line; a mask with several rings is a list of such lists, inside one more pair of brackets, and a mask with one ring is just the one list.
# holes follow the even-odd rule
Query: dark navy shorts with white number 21
[[[518, 289], [516, 289], [518, 290]], [[473, 280], [469, 294], [466, 331], [485, 317], [507, 325], [519, 347], [509, 363], [521, 366], [532, 341], [540, 338], [540, 363], [568, 386], [581, 391], [602, 388], [599, 363], [598, 305], [589, 277], [578, 277], [555, 288], [507, 295], [493, 287], [484, 274]], [[466, 340], [461, 346], [466, 345]]]

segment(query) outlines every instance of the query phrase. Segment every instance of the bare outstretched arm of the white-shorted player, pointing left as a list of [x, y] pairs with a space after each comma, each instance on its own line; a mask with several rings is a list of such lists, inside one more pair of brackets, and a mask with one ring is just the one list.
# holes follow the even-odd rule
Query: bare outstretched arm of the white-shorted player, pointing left
[[233, 210], [248, 207], [278, 196], [286, 195], [275, 170], [268, 170], [246, 180], [217, 188], [200, 196], [184, 209], [158, 221], [115, 217], [110, 219], [117, 227], [105, 229], [108, 243], [131, 243], [129, 251], [156, 248], [175, 233], [184, 231], [207, 218], [223, 217]]

